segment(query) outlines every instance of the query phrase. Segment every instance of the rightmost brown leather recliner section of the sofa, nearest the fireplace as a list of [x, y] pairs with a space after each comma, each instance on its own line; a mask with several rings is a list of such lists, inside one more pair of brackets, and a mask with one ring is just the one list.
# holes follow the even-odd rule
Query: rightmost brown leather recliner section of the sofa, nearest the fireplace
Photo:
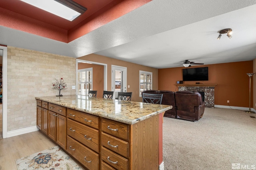
[[175, 92], [177, 119], [199, 120], [204, 114], [204, 102], [199, 92]]

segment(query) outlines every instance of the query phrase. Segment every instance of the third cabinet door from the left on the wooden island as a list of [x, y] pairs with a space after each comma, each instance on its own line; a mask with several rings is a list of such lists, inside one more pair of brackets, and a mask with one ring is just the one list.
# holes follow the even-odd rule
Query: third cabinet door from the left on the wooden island
[[56, 115], [52, 111], [48, 111], [48, 136], [56, 141]]

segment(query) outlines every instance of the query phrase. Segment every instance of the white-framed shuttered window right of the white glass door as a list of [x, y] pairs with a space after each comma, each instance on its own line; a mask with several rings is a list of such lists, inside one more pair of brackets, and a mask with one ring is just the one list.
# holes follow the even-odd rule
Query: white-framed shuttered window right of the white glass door
[[145, 90], [152, 90], [152, 72], [140, 70], [140, 97]]

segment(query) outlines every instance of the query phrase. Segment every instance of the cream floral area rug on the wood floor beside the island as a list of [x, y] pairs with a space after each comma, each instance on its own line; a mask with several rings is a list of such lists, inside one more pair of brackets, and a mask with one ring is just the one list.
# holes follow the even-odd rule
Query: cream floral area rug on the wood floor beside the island
[[18, 170], [83, 170], [60, 147], [52, 147], [16, 160]]

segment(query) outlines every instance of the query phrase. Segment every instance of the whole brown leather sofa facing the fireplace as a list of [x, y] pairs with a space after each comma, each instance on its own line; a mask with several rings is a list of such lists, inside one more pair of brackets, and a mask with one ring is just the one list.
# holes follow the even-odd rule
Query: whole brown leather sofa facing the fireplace
[[163, 94], [162, 104], [172, 106], [172, 109], [164, 113], [164, 117], [197, 121], [204, 114], [205, 103], [199, 92], [146, 90], [142, 93]]

